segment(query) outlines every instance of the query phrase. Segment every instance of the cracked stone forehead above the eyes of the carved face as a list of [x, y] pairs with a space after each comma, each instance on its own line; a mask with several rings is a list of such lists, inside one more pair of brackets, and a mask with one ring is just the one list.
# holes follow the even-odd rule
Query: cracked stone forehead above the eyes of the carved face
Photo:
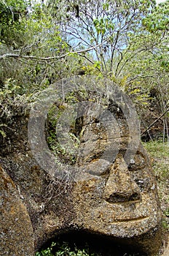
[[130, 159], [133, 159], [136, 151], [137, 154], [140, 151], [139, 154], [144, 155], [143, 148], [139, 150], [135, 148], [136, 146], [130, 148], [130, 143], [134, 144], [135, 140], [138, 140], [138, 135], [130, 134], [127, 122], [123, 118], [118, 118], [117, 121], [118, 129], [114, 129], [114, 124], [106, 127], [103, 122], [91, 116], [83, 116], [76, 121], [76, 127], [79, 129], [81, 160], [90, 162], [93, 159], [103, 158], [112, 162], [117, 153], [124, 156], [126, 151]]

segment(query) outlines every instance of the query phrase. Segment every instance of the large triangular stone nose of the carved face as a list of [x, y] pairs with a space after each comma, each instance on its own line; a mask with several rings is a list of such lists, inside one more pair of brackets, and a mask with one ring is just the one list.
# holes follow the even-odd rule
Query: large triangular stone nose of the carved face
[[111, 166], [103, 196], [109, 203], [141, 200], [141, 191], [130, 176], [123, 158], [118, 159]]

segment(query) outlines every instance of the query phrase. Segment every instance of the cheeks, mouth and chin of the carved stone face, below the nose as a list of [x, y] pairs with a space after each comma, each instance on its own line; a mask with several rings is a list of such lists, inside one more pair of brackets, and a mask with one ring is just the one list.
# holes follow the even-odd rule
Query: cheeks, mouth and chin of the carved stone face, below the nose
[[140, 200], [109, 203], [102, 197], [103, 183], [84, 183], [74, 189], [75, 222], [82, 229], [114, 238], [132, 238], [150, 230], [155, 232], [160, 225], [161, 211], [154, 190], [142, 192]]

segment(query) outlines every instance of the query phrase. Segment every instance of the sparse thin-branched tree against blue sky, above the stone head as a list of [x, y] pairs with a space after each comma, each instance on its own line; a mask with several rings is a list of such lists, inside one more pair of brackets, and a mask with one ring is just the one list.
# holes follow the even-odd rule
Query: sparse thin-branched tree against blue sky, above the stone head
[[93, 64], [97, 61], [101, 72], [117, 77], [129, 61], [125, 54], [130, 48], [130, 35], [140, 34], [141, 20], [151, 7], [154, 1], [69, 1], [68, 7], [65, 5], [67, 19], [60, 21], [60, 29], [72, 48], [93, 48], [90, 58], [85, 54], [83, 57]]

